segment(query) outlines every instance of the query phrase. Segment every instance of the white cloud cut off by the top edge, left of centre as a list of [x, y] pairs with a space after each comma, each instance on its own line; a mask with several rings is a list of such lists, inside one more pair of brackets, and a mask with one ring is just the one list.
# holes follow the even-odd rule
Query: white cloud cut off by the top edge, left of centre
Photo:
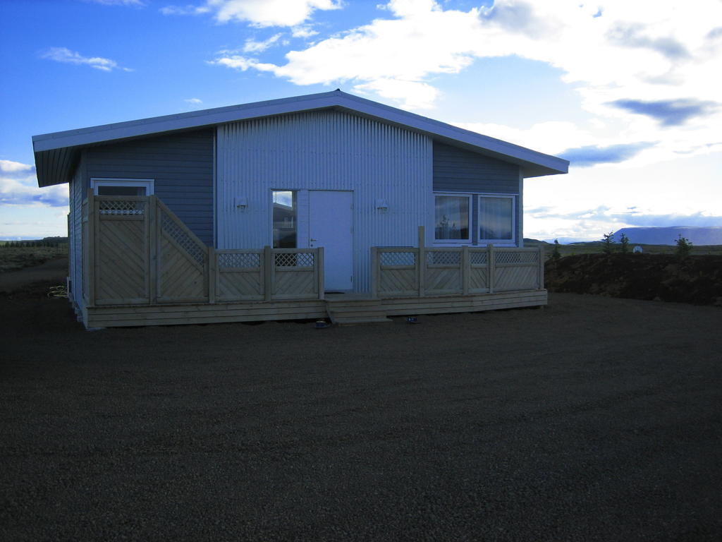
[[341, 0], [206, 0], [202, 6], [166, 6], [160, 12], [164, 15], [212, 12], [217, 22], [248, 22], [257, 27], [297, 27], [308, 21], [318, 9], [340, 7]]

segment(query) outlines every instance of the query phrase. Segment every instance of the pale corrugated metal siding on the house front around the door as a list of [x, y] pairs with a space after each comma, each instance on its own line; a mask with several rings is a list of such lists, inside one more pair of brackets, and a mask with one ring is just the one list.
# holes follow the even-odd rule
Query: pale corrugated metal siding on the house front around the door
[[[219, 126], [219, 248], [271, 243], [272, 189], [354, 192], [354, 289], [367, 291], [371, 246], [415, 246], [418, 226], [430, 231], [432, 142], [340, 111]], [[235, 207], [238, 197], [248, 202], [245, 210]], [[380, 198], [388, 211], [375, 208]], [[299, 222], [308, 224], [303, 217]]]

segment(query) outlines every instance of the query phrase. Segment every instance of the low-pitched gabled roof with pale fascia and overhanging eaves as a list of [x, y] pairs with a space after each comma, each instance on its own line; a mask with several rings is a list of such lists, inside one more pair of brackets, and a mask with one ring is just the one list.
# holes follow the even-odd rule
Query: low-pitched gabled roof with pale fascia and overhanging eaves
[[384, 106], [372, 100], [343, 93], [341, 90], [334, 90], [330, 93], [245, 103], [240, 106], [204, 109], [202, 111], [191, 111], [190, 113], [157, 116], [138, 121], [117, 122], [33, 136], [32, 147], [35, 151], [38, 186], [68, 182], [77, 164], [79, 151], [84, 147], [124, 139], [148, 137], [154, 134], [200, 129], [232, 121], [319, 109], [348, 111], [427, 134], [436, 141], [448, 145], [462, 147], [492, 158], [516, 163], [521, 167], [524, 177], [567, 173], [569, 166], [569, 162], [562, 158], [545, 155], [500, 139], [469, 132], [469, 130], [428, 119], [425, 116], [409, 113], [408, 111]]

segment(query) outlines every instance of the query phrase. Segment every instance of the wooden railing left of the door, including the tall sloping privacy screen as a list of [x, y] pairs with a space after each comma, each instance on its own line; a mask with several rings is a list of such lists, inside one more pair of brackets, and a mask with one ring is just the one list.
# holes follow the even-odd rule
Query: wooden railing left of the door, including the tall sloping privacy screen
[[323, 299], [323, 249], [215, 250], [155, 196], [83, 203], [87, 306]]

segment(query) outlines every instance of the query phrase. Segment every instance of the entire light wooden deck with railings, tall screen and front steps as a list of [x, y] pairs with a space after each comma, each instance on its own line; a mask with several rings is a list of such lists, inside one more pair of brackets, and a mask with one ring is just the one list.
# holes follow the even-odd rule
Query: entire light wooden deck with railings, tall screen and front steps
[[87, 327], [388, 317], [547, 304], [544, 255], [495, 246], [371, 247], [366, 293], [326, 293], [323, 248], [214, 249], [155, 196], [83, 204]]

